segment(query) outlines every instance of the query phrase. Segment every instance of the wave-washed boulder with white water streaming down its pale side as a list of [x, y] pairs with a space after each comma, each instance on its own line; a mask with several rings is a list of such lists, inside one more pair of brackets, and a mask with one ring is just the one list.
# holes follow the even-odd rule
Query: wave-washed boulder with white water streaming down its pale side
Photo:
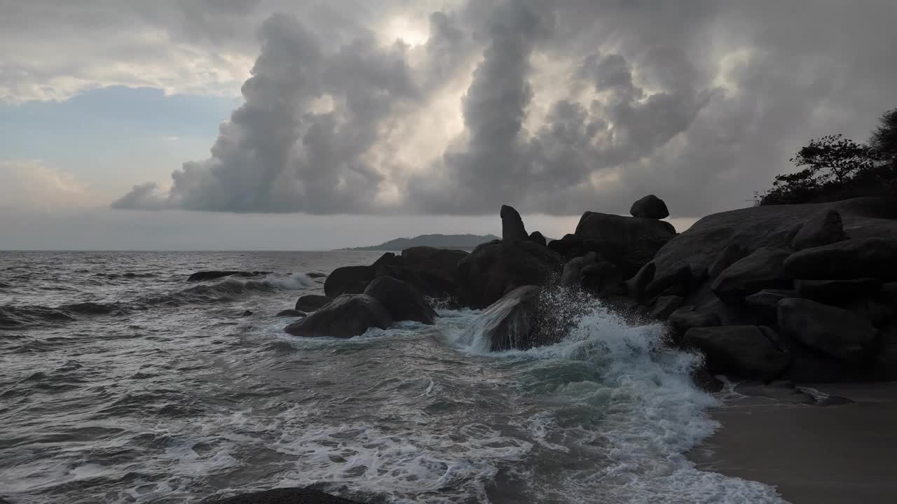
[[537, 330], [542, 288], [525, 285], [508, 292], [483, 310], [467, 328], [466, 338], [480, 350], [526, 350], [545, 343]]

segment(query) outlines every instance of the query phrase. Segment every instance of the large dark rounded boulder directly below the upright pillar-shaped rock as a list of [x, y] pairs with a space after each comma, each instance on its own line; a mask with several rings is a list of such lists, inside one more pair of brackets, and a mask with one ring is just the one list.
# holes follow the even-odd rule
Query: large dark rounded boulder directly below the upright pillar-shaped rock
[[561, 256], [532, 241], [494, 240], [457, 265], [461, 300], [484, 308], [524, 285], [544, 285], [560, 274]]

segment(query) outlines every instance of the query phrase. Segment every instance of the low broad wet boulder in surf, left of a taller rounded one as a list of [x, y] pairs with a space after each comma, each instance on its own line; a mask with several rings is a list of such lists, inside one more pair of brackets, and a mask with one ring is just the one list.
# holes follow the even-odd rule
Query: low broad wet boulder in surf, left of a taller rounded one
[[283, 328], [296, 336], [351, 338], [370, 327], [392, 326], [387, 308], [366, 294], [343, 294], [324, 308]]

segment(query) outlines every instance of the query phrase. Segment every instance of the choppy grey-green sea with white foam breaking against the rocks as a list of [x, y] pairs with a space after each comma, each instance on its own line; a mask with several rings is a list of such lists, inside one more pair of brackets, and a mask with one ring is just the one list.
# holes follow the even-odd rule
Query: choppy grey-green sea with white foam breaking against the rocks
[[[196, 503], [316, 484], [371, 503], [778, 503], [684, 456], [699, 358], [570, 292], [561, 343], [490, 353], [440, 308], [348, 340], [274, 317], [379, 252], [0, 253], [0, 498]], [[200, 270], [271, 271], [187, 282]], [[479, 335], [482, 336], [482, 335]]]

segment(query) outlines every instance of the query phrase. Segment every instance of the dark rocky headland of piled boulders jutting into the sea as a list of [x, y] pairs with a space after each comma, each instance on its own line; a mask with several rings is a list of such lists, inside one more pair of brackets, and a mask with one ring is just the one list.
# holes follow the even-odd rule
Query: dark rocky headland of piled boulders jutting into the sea
[[[289, 315], [309, 315], [284, 330], [353, 337], [401, 320], [431, 325], [431, 300], [440, 299], [483, 308], [476, 325], [489, 350], [527, 349], [554, 343], [570, 322], [541, 296], [560, 288], [633, 322], [666, 323], [669, 344], [705, 356], [695, 378], [710, 390], [722, 385], [715, 375], [798, 386], [897, 379], [893, 200], [757, 206], [676, 233], [651, 195], [632, 216], [586, 212], [572, 234], [548, 243], [514, 208], [500, 215], [501, 239], [469, 254], [407, 248], [337, 268], [326, 297], [300, 298]], [[232, 502], [329, 502], [277, 495]]]

